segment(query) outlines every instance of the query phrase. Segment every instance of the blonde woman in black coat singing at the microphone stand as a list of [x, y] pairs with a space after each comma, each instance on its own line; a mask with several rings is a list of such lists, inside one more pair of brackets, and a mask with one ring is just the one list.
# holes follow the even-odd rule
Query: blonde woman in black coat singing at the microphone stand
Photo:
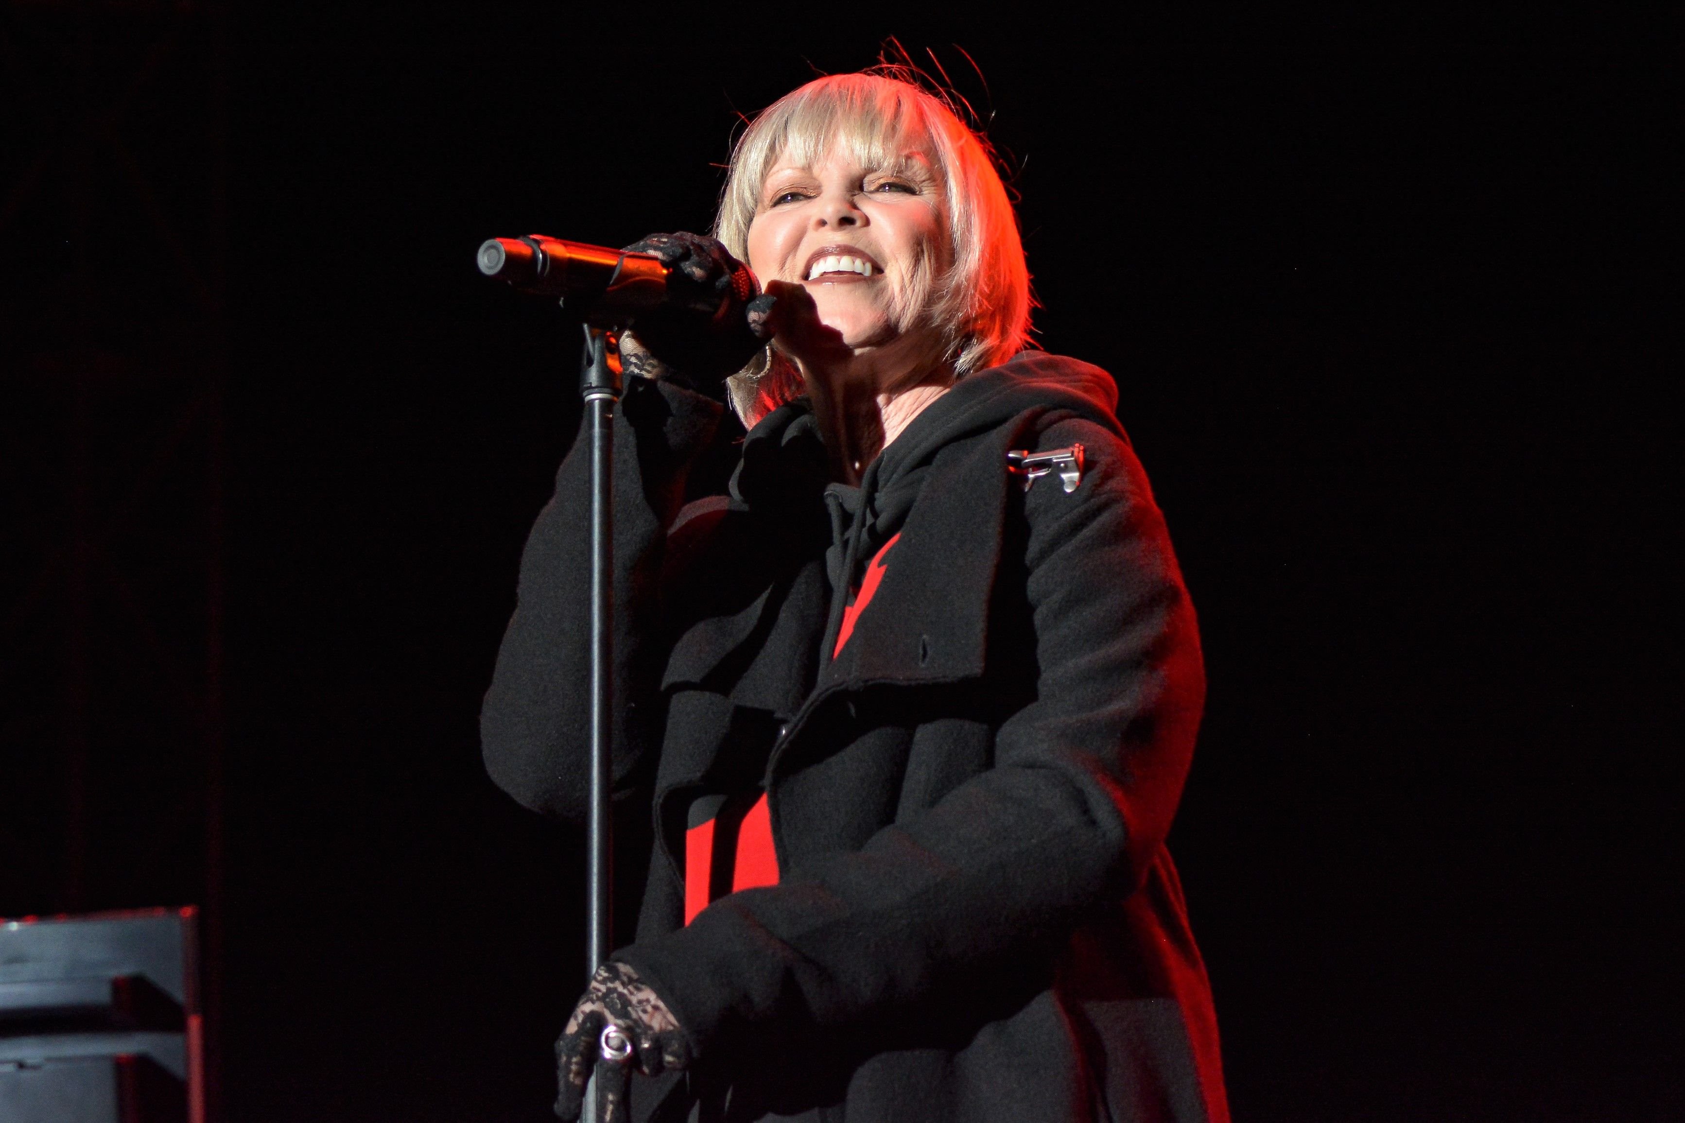
[[[721, 291], [746, 261], [770, 342], [622, 343], [615, 790], [642, 907], [558, 1042], [558, 1115], [613, 1022], [637, 1120], [1225, 1121], [1164, 850], [1193, 606], [1112, 379], [1028, 347], [984, 141], [895, 71], [821, 77], [743, 135], [714, 239], [635, 249]], [[497, 783], [564, 820], [586, 473], [575, 448], [482, 717]]]

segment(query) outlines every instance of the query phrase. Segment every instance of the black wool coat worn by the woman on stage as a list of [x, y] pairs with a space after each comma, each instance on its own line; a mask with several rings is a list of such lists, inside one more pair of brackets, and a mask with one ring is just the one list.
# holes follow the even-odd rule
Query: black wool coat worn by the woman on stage
[[[615, 958], [698, 1054], [681, 1081], [640, 1079], [637, 1115], [730, 1089], [745, 1120], [1227, 1120], [1164, 850], [1205, 694], [1198, 631], [1110, 377], [1026, 352], [920, 414], [864, 497], [831, 488], [842, 522], [866, 508], [856, 557], [901, 535], [834, 660], [848, 535], [812, 419], [763, 419], [731, 493], [684, 505], [723, 409], [634, 382], [615, 783], [623, 854], [649, 860]], [[1077, 443], [1073, 493], [1008, 473], [1008, 450]], [[532, 530], [482, 716], [497, 783], [563, 818], [586, 790], [586, 471], [576, 448]], [[684, 926], [691, 798], [757, 783], [780, 884]]]

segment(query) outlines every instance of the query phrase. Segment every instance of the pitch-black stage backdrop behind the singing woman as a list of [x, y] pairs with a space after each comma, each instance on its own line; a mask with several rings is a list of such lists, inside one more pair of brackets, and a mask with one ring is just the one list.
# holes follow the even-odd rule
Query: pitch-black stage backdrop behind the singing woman
[[[891, 34], [992, 114], [1040, 338], [1117, 375], [1201, 613], [1173, 850], [1235, 1116], [1682, 1118], [1663, 30], [236, 5], [226, 1118], [549, 1118], [581, 855], [475, 719], [575, 337], [473, 249], [706, 229], [735, 114]], [[15, 330], [57, 237], [0, 229]], [[51, 692], [59, 658], [5, 667]], [[79, 907], [202, 892], [168, 744], [94, 768], [83, 850], [56, 727], [0, 748], [0, 916], [72, 854]]]

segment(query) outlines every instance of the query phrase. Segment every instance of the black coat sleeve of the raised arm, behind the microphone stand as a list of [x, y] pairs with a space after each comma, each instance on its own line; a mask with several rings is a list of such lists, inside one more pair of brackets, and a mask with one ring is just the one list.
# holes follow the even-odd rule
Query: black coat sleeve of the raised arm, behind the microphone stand
[[[723, 418], [725, 407], [701, 394], [639, 377], [627, 379], [615, 411], [617, 786], [654, 751], [664, 532]], [[588, 790], [590, 476], [590, 441], [576, 439], [521, 556], [516, 611], [480, 709], [492, 780], [524, 806], [563, 820], [585, 817]]]

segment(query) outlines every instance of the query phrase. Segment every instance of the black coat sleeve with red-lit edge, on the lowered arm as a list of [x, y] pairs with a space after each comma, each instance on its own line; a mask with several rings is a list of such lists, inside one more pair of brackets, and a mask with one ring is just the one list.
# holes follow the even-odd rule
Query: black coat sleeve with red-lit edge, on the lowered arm
[[[996, 732], [992, 768], [849, 854], [736, 892], [618, 953], [701, 1054], [829, 1030], [885, 1032], [1050, 971], [1073, 929], [1134, 892], [1181, 795], [1205, 695], [1193, 608], [1129, 446], [1082, 441], [1067, 495], [1024, 495], [1040, 680]], [[1043, 983], [1045, 985], [1045, 983]]]

